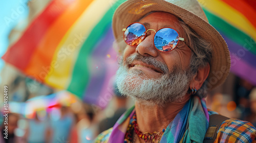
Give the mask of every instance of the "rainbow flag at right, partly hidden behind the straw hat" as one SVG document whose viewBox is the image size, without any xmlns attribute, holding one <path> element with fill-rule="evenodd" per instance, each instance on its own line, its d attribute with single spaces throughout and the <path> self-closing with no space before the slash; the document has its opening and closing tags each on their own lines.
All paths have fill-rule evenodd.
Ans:
<svg viewBox="0 0 256 143">
<path fill-rule="evenodd" d="M 198 0 L 230 51 L 231 72 L 256 85 L 256 1 Z"/>
</svg>

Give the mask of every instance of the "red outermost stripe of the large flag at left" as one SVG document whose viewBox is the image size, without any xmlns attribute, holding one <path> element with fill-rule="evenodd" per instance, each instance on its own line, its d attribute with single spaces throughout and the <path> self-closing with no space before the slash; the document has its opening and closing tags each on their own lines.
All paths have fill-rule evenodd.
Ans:
<svg viewBox="0 0 256 143">
<path fill-rule="evenodd" d="M 31 23 L 23 36 L 11 45 L 2 59 L 15 65 L 20 70 L 25 69 L 37 44 L 45 36 L 47 29 L 73 2 L 71 0 L 52 1 Z"/>
</svg>

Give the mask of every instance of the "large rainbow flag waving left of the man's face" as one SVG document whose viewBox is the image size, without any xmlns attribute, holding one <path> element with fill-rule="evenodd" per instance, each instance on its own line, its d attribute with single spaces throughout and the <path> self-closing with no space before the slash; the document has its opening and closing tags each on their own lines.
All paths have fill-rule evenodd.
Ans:
<svg viewBox="0 0 256 143">
<path fill-rule="evenodd" d="M 32 79 L 104 108 L 117 70 L 112 16 L 123 1 L 53 0 L 2 58 Z"/>
</svg>

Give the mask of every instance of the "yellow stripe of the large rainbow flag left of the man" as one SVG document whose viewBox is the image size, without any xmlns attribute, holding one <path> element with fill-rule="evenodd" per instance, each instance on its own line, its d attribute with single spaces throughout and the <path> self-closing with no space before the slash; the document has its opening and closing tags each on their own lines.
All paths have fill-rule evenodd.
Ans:
<svg viewBox="0 0 256 143">
<path fill-rule="evenodd" d="M 82 13 L 57 46 L 53 57 L 56 68 L 46 77 L 47 84 L 60 89 L 69 86 L 73 67 L 83 42 L 110 7 L 110 0 L 95 0 Z"/>
</svg>

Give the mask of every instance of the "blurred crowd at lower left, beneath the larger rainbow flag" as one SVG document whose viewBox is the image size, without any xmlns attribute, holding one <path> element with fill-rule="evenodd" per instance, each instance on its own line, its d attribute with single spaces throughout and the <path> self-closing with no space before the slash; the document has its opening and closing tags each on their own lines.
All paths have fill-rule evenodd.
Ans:
<svg viewBox="0 0 256 143">
<path fill-rule="evenodd" d="M 118 105 L 113 116 L 103 117 L 99 108 L 81 104 L 80 111 L 75 112 L 72 106 L 51 107 L 46 112 L 41 109 L 31 118 L 22 114 L 8 114 L 8 139 L 4 139 L 4 122 L 1 123 L 0 142 L 93 142 L 93 139 L 102 131 L 113 127 L 120 115 L 126 110 L 125 97 L 115 97 Z M 96 115 L 97 113 L 97 115 Z M 4 117 L 2 117 L 4 121 Z"/>
</svg>

